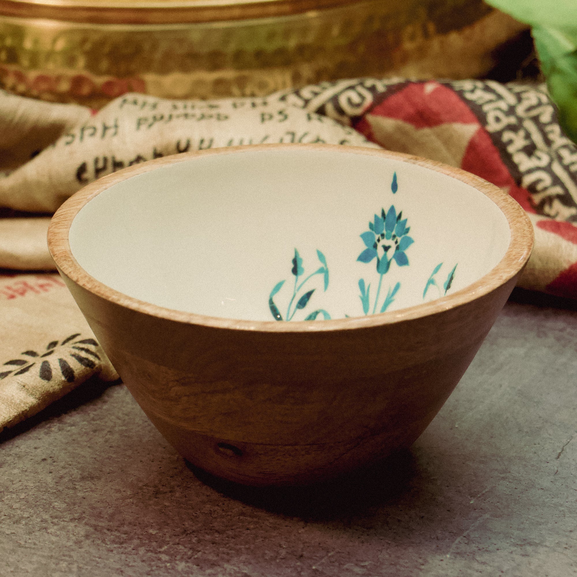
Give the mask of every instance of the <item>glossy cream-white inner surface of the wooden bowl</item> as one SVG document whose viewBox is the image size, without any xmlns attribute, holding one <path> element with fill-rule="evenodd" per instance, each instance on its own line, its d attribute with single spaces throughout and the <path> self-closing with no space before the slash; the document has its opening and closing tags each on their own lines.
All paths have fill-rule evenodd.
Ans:
<svg viewBox="0 0 577 577">
<path fill-rule="evenodd" d="M 369 221 L 379 229 L 374 215 L 391 206 L 395 215 L 402 211 L 395 228 L 407 219 L 396 230 L 400 240 L 413 242 L 402 241 L 404 264 L 404 257 L 392 256 L 394 233 L 375 240 L 379 261 L 390 263 L 381 275 L 384 261 L 377 271 L 377 257 L 358 260 L 368 248 L 365 260 L 374 254 L 371 235 L 361 234 L 371 232 Z M 391 223 L 389 216 L 388 230 Z M 439 298 L 488 273 L 509 240 L 503 213 L 473 187 L 344 147 L 247 148 L 155 168 L 98 194 L 69 233 L 78 264 L 123 294 L 169 309 L 259 321 L 275 320 L 275 307 L 283 320 L 305 320 L 315 311 L 317 320 L 325 313 L 342 319 Z M 383 246 L 391 246 L 386 257 Z M 302 258 L 296 268 L 295 249 Z M 271 307 L 271 292 L 283 280 Z"/>
</svg>

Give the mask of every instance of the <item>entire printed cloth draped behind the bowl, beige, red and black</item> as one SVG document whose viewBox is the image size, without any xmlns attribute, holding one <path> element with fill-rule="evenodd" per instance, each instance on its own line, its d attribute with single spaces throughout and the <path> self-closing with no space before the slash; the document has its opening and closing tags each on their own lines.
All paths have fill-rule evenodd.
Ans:
<svg viewBox="0 0 577 577">
<path fill-rule="evenodd" d="M 134 163 L 279 142 L 379 146 L 494 183 L 534 227 L 518 286 L 577 298 L 577 147 L 541 85 L 357 78 L 258 99 L 128 94 L 98 112 L 0 91 L 0 267 L 23 271 L 0 275 L 0 429 L 91 377 L 117 379 L 65 285 L 39 272 L 54 269 L 50 213 Z"/>
</svg>

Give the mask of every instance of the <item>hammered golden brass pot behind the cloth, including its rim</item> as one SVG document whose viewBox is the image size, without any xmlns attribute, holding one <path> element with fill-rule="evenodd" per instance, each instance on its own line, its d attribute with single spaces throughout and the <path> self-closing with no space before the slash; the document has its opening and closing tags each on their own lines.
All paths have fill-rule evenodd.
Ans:
<svg viewBox="0 0 577 577">
<path fill-rule="evenodd" d="M 129 91 L 205 99 L 463 78 L 522 28 L 481 0 L 0 0 L 0 85 L 99 108 Z"/>
</svg>

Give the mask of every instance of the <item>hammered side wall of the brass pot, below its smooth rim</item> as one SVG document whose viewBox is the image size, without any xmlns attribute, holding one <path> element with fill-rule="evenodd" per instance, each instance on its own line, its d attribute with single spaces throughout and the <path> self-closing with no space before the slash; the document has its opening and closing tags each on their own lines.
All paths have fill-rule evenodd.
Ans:
<svg viewBox="0 0 577 577">
<path fill-rule="evenodd" d="M 336 78 L 406 73 L 407 65 L 411 72 L 411 59 L 430 58 L 440 36 L 476 26 L 473 40 L 482 44 L 482 23 L 489 20 L 496 29 L 491 42 L 503 42 L 523 27 L 480 0 L 369 0 L 274 18 L 193 24 L 0 16 L 0 86 L 94 108 L 129 91 L 164 98 L 265 96 Z M 486 58 L 456 56 L 433 54 L 430 76 L 475 76 L 490 66 Z M 415 70 L 422 76 L 418 66 Z"/>
</svg>

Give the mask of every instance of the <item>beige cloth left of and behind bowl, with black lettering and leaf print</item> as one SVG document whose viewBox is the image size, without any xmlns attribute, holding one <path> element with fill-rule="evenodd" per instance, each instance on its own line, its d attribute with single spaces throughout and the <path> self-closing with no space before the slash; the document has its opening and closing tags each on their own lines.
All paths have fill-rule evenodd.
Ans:
<svg viewBox="0 0 577 577">
<path fill-rule="evenodd" d="M 355 130 L 280 100 L 182 102 L 129 94 L 91 115 L 0 92 L 0 267 L 54 269 L 51 213 L 104 174 L 159 156 L 252 143 L 376 147 Z M 34 128 L 36 127 L 36 129 Z M 43 149 L 42 152 L 38 152 Z M 27 161 L 28 162 L 25 162 Z M 12 216 L 10 216 L 12 215 Z M 0 276 L 0 429 L 43 409 L 92 374 L 118 376 L 58 275 Z"/>
</svg>

